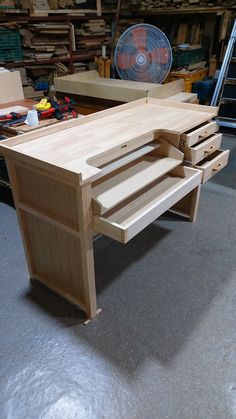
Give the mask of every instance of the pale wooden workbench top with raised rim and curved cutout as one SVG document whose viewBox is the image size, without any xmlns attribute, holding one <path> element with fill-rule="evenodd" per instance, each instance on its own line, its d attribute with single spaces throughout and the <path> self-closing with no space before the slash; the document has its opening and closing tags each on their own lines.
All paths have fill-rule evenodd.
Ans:
<svg viewBox="0 0 236 419">
<path fill-rule="evenodd" d="M 0 153 L 31 158 L 48 169 L 66 170 L 82 184 L 101 172 L 99 166 L 158 138 L 160 133 L 179 138 L 216 114 L 213 107 L 146 98 L 3 141 Z"/>
</svg>

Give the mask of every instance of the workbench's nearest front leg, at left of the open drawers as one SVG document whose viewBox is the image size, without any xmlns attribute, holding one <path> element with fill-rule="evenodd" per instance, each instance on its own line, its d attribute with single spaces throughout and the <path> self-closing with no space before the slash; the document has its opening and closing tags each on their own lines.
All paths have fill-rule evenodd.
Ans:
<svg viewBox="0 0 236 419">
<path fill-rule="evenodd" d="M 78 188 L 77 204 L 85 307 L 88 318 L 92 319 L 97 314 L 97 305 L 92 242 L 91 185 L 84 185 Z"/>
</svg>

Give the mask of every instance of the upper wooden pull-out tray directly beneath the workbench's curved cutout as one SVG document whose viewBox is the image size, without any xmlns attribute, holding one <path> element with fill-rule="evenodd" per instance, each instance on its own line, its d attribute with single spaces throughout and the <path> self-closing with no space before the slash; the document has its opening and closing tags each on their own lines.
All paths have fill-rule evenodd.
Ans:
<svg viewBox="0 0 236 419">
<path fill-rule="evenodd" d="M 142 152 L 141 148 L 139 154 Z M 110 211 L 182 161 L 183 153 L 159 138 L 158 146 L 152 152 L 138 157 L 137 151 L 134 151 L 103 166 L 104 175 L 92 184 L 93 212 L 102 215 Z M 121 166 L 122 163 L 125 164 Z"/>
</svg>

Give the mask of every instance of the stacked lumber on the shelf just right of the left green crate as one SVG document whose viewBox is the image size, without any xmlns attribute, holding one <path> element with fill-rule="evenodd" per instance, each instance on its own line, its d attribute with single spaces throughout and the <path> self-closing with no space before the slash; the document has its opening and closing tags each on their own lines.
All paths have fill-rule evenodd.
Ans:
<svg viewBox="0 0 236 419">
<path fill-rule="evenodd" d="M 51 57 L 69 57 L 69 25 L 61 23 L 34 23 L 21 30 L 25 59 L 49 60 Z"/>
</svg>

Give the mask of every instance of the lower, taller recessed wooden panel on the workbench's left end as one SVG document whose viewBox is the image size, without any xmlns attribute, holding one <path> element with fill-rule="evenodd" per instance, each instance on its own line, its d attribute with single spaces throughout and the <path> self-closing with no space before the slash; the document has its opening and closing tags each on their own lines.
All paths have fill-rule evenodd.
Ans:
<svg viewBox="0 0 236 419">
<path fill-rule="evenodd" d="M 80 238 L 21 210 L 32 270 L 50 288 L 84 307 Z"/>
</svg>

